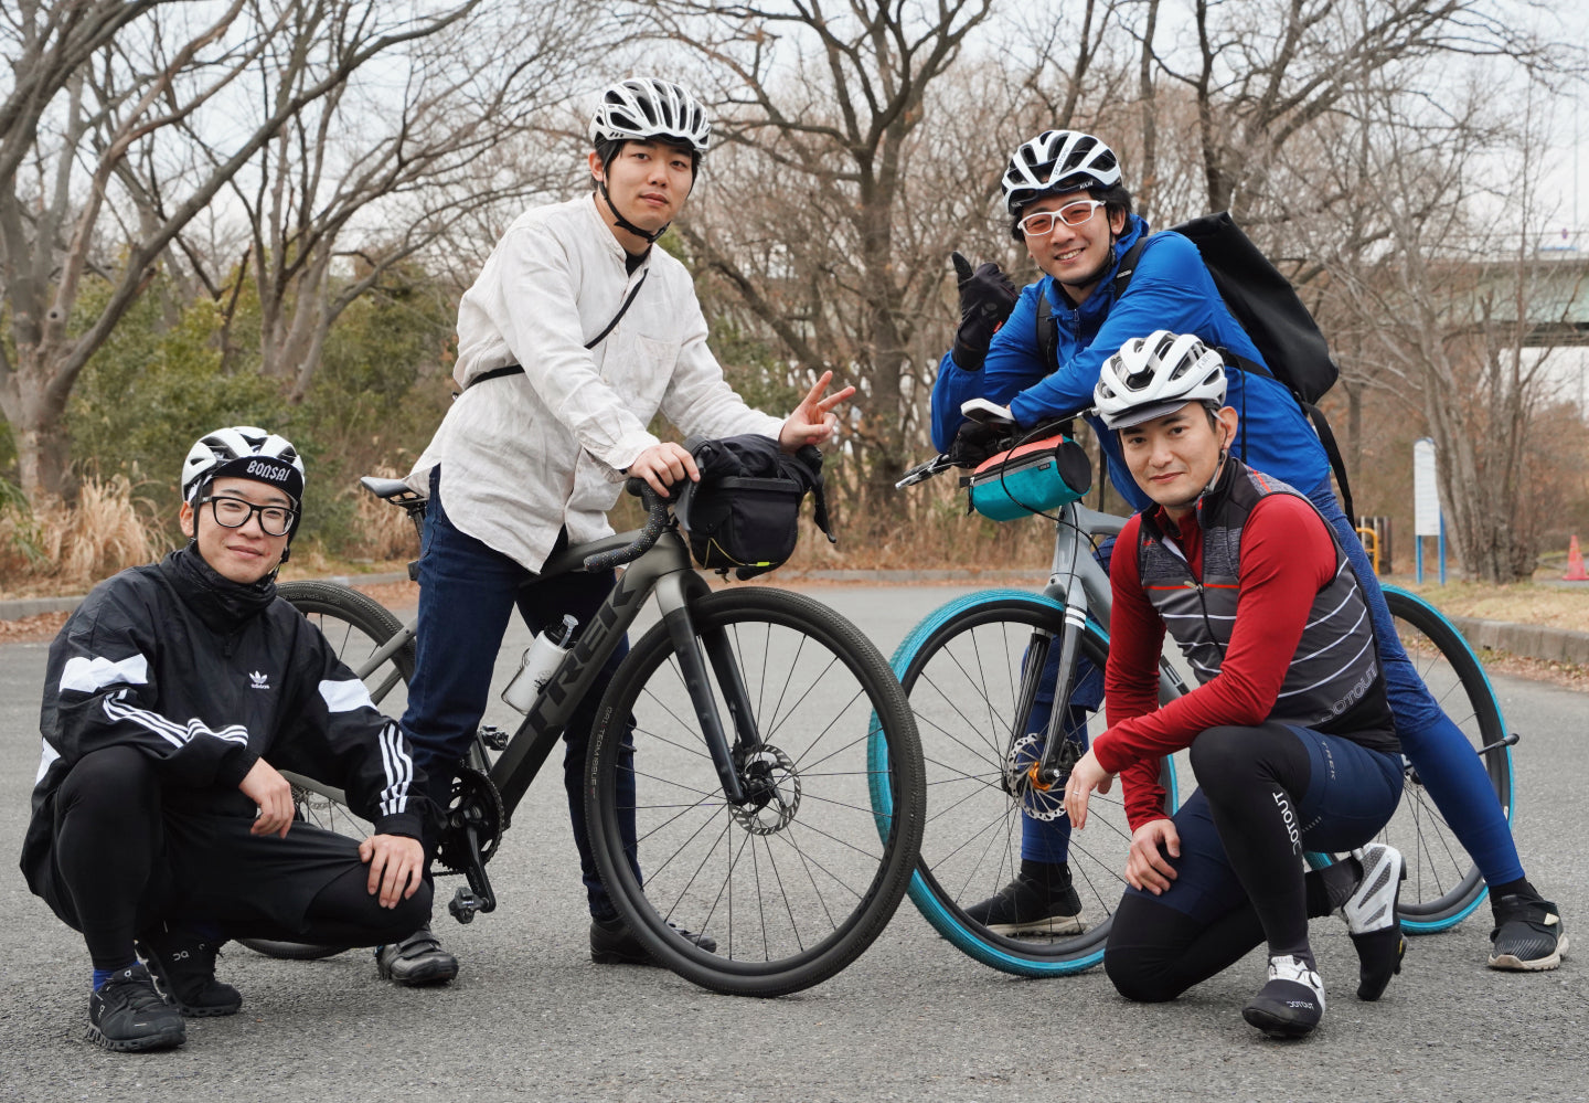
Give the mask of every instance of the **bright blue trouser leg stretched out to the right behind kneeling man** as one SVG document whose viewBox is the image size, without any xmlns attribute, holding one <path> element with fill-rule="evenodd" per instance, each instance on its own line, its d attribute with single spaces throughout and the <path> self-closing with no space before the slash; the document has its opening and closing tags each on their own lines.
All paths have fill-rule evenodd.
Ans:
<svg viewBox="0 0 1589 1103">
<path fill-rule="evenodd" d="M 1346 558 L 1357 572 L 1368 599 L 1368 612 L 1374 620 L 1374 642 L 1379 645 L 1379 661 L 1386 671 L 1386 695 L 1395 715 L 1395 734 L 1401 741 L 1401 753 L 1408 757 L 1462 847 L 1473 857 L 1484 880 L 1505 885 L 1522 879 L 1522 861 L 1511 839 L 1506 815 L 1495 799 L 1484 763 L 1473 753 L 1462 730 L 1441 712 L 1417 669 L 1401 648 L 1401 637 L 1390 620 L 1379 579 L 1363 552 L 1357 529 L 1341 512 L 1330 485 L 1314 488 L 1308 501 L 1335 526 Z"/>
</svg>

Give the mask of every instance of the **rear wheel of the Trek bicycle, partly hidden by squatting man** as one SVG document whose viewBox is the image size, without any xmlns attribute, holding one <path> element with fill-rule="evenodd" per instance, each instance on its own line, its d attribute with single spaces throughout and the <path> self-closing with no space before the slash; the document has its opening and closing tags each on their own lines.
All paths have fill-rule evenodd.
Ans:
<svg viewBox="0 0 1589 1103">
<path fill-rule="evenodd" d="M 354 671 L 367 666 L 369 656 L 402 631 L 402 623 L 380 602 L 350 586 L 334 582 L 283 582 L 276 586 L 276 593 L 292 602 L 326 636 L 326 642 L 331 644 L 337 658 Z M 394 704 L 400 707 L 407 699 L 404 690 L 413 674 L 413 641 L 408 641 L 386 663 L 365 674 L 364 683 L 370 690 L 370 698 L 377 701 L 377 707 L 389 712 Z M 288 780 L 292 782 L 292 803 L 297 806 L 299 822 L 346 834 L 351 839 L 364 839 L 370 834 L 369 820 L 354 815 L 338 790 L 307 777 L 289 777 Z M 265 957 L 296 962 L 331 957 L 346 949 L 269 938 L 240 938 L 237 941 Z"/>
</svg>

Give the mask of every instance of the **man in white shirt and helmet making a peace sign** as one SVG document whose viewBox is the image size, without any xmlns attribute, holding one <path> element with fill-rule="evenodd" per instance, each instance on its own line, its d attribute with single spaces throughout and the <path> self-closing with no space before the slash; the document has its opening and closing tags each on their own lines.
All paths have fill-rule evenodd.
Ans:
<svg viewBox="0 0 1589 1103">
<path fill-rule="evenodd" d="M 710 130 L 701 103 L 675 84 L 636 78 L 609 87 L 591 121 L 593 194 L 521 215 L 459 304 L 453 377 L 464 393 L 408 477 L 431 501 L 402 726 L 443 807 L 513 606 L 539 633 L 564 613 L 583 625 L 612 590 L 612 571 L 535 585 L 547 558 L 612 532 L 605 515 L 624 477 L 664 494 L 699 477 L 685 448 L 647 431 L 650 420 L 661 412 L 693 437 L 764 434 L 796 451 L 825 442 L 833 408 L 855 393 L 823 397 L 826 373 L 779 420 L 752 410 L 723 378 L 688 270 L 651 248 L 683 208 Z M 564 733 L 564 785 L 591 958 L 644 965 L 596 871 L 582 791 L 596 701 L 626 652 L 612 656 Z M 632 831 L 631 819 L 631 852 Z M 458 974 L 427 928 L 381 947 L 377 965 L 399 984 Z"/>
</svg>

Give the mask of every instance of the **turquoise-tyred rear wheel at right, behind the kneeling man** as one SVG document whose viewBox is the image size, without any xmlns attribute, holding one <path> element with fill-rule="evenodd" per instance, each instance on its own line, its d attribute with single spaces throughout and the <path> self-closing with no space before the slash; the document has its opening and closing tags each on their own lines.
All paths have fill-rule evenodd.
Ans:
<svg viewBox="0 0 1589 1103">
<path fill-rule="evenodd" d="M 1484 668 L 1462 634 L 1427 601 L 1395 586 L 1386 586 L 1384 594 L 1408 660 L 1435 702 L 1462 730 L 1473 753 L 1484 763 L 1484 772 L 1510 822 L 1514 796 L 1511 747 L 1503 742 L 1506 726 Z M 1409 935 L 1430 935 L 1456 927 L 1489 892 L 1478 866 L 1411 763 L 1406 763 L 1401 803 L 1381 839 L 1406 858 L 1406 884 L 1401 887 L 1398 911 L 1401 927 Z"/>
</svg>

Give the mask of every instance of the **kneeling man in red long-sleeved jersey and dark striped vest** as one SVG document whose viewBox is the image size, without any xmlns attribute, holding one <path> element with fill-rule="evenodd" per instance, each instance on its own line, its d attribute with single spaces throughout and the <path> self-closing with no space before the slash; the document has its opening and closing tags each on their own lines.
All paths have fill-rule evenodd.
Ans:
<svg viewBox="0 0 1589 1103">
<path fill-rule="evenodd" d="M 1131 850 L 1104 968 L 1130 1000 L 1173 1000 L 1268 942 L 1243 1008 L 1273 1036 L 1324 1016 L 1308 917 L 1343 908 L 1359 997 L 1400 971 L 1401 855 L 1368 846 L 1401 796 L 1401 755 L 1363 588 L 1328 523 L 1230 455 L 1217 353 L 1155 332 L 1104 362 L 1096 412 L 1154 505 L 1120 532 L 1104 671 L 1109 728 L 1065 787 L 1073 825 L 1123 774 Z M 1158 706 L 1174 636 L 1200 682 Z M 1163 814 L 1158 760 L 1190 747 L 1198 790 Z M 1303 850 L 1352 850 L 1303 873 Z"/>
</svg>

